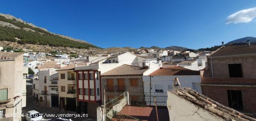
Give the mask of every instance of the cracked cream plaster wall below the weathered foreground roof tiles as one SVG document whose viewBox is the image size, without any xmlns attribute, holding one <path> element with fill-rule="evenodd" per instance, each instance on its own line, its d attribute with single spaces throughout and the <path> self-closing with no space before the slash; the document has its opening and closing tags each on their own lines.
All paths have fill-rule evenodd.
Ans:
<svg viewBox="0 0 256 121">
<path fill-rule="evenodd" d="M 168 91 L 167 108 L 170 121 L 225 121 L 170 91 Z"/>
</svg>

